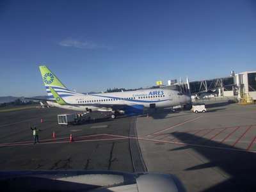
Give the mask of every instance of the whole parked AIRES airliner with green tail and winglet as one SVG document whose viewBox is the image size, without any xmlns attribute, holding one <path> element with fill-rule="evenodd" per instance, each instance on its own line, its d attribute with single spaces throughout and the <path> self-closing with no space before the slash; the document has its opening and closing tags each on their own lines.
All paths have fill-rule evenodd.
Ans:
<svg viewBox="0 0 256 192">
<path fill-rule="evenodd" d="M 147 108 L 170 108 L 191 102 L 191 97 L 176 90 L 148 89 L 88 95 L 72 92 L 49 68 L 39 68 L 49 97 L 47 103 L 58 108 L 84 113 L 111 112 L 111 118 L 116 118 L 117 115 L 143 115 Z"/>
</svg>

